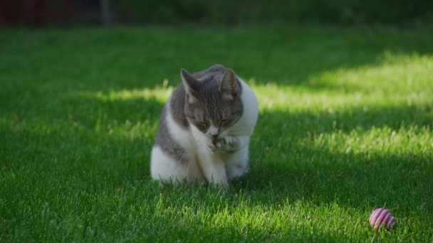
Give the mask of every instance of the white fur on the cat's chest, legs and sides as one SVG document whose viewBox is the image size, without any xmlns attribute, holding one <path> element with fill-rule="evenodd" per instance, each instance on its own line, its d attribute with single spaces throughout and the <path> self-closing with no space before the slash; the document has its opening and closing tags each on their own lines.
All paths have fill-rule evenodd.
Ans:
<svg viewBox="0 0 433 243">
<path fill-rule="evenodd" d="M 189 163 L 184 165 L 168 156 L 158 146 L 152 148 L 151 175 L 154 180 L 208 182 L 226 186 L 233 178 L 244 175 L 248 169 L 249 138 L 253 134 L 259 114 L 259 105 L 253 90 L 241 80 L 241 100 L 244 113 L 241 119 L 223 131 L 221 137 L 226 144 L 221 149 L 212 151 L 212 141 L 195 126 L 183 129 L 176 124 L 167 104 L 167 126 L 172 138 L 184 148 Z M 230 144 L 236 144 L 235 148 Z M 224 153 L 224 150 L 231 153 Z"/>
</svg>

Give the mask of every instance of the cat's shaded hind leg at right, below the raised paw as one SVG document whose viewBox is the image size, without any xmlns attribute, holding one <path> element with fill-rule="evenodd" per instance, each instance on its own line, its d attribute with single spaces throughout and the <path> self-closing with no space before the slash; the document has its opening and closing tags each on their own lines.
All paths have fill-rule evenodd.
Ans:
<svg viewBox="0 0 433 243">
<path fill-rule="evenodd" d="M 241 177 L 248 172 L 248 146 L 244 146 L 239 151 L 231 153 L 226 159 L 227 180 Z"/>
</svg>

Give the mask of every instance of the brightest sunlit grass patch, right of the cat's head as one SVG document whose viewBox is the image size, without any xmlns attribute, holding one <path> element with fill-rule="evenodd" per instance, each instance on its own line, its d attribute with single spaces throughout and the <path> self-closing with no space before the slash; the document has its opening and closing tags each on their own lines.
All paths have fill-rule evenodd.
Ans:
<svg viewBox="0 0 433 243">
<path fill-rule="evenodd" d="M 289 85 L 249 82 L 254 84 L 262 109 L 432 104 L 432 72 L 432 56 L 385 53 L 381 63 L 325 70 L 308 77 L 305 85 L 290 85 L 291 80 Z"/>
</svg>

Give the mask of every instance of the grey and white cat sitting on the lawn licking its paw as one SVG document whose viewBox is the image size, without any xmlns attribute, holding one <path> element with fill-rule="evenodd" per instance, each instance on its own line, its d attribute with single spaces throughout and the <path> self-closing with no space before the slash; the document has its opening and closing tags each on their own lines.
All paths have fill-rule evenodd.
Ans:
<svg viewBox="0 0 433 243">
<path fill-rule="evenodd" d="M 223 65 L 189 74 L 160 117 L 150 171 L 153 180 L 228 186 L 249 168 L 249 140 L 259 104 L 253 90 Z"/>
</svg>

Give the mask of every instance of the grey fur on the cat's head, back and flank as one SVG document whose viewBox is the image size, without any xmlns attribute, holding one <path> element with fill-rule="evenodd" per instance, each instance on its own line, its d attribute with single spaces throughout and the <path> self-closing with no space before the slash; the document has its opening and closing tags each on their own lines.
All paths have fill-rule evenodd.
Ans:
<svg viewBox="0 0 433 243">
<path fill-rule="evenodd" d="M 221 83 L 226 73 L 236 77 L 232 70 L 222 65 L 212 65 L 194 75 L 189 75 L 186 70 L 182 70 L 186 83 L 179 85 L 169 99 L 169 111 L 172 118 L 182 129 L 187 130 L 194 125 L 200 131 L 206 132 L 212 121 L 222 130 L 235 124 L 241 118 L 244 111 L 240 98 L 241 82 L 236 77 L 236 80 L 226 78 L 224 82 L 228 83 Z M 230 95 L 234 96 L 233 99 L 225 99 L 224 92 L 230 92 Z M 192 96 L 196 102 L 190 103 L 189 96 Z M 162 110 L 155 144 L 180 163 L 187 163 L 189 158 L 184 148 L 177 144 L 169 134 L 166 118 L 167 106 L 168 104 Z"/>
</svg>

